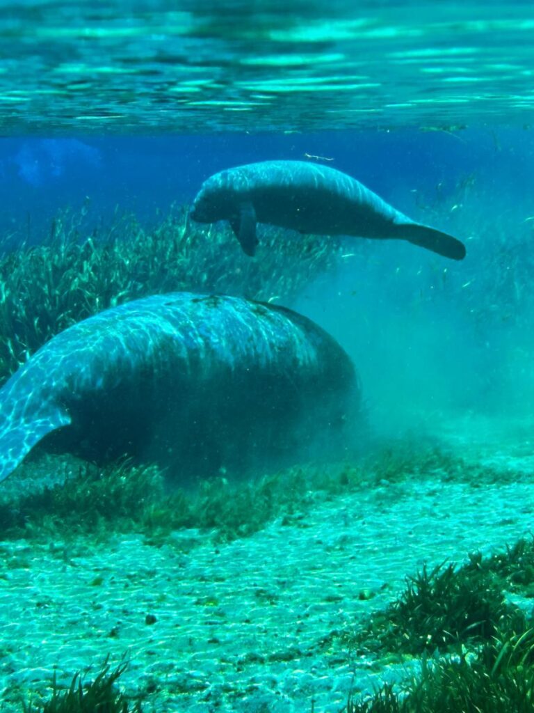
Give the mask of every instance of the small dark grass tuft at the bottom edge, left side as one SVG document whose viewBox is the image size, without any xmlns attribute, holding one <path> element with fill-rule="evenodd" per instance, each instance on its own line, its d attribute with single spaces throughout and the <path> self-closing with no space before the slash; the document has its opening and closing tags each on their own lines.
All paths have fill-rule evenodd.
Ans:
<svg viewBox="0 0 534 713">
<path fill-rule="evenodd" d="M 86 683 L 77 672 L 68 688 L 61 687 L 54 674 L 51 698 L 43 705 L 23 702 L 23 713 L 141 713 L 139 701 L 131 706 L 117 690 L 117 680 L 126 669 L 127 663 L 122 662 L 112 670 L 108 656 L 92 681 Z"/>
</svg>

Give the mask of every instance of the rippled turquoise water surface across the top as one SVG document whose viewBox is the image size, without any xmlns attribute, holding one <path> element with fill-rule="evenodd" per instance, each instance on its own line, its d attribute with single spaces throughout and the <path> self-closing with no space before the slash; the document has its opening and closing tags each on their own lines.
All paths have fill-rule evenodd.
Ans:
<svg viewBox="0 0 534 713">
<path fill-rule="evenodd" d="M 528 2 L 2 3 L 6 135 L 530 123 Z"/>
</svg>

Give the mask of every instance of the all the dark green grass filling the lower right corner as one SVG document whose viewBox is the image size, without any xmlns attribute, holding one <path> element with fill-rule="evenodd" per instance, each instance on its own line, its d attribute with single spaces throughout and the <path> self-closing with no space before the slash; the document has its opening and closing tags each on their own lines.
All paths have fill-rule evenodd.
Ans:
<svg viewBox="0 0 534 713">
<path fill-rule="evenodd" d="M 461 568 L 426 567 L 386 610 L 348 635 L 362 655 L 420 656 L 421 670 L 347 713 L 522 713 L 534 710 L 534 617 L 506 592 L 531 597 L 534 540 L 469 556 Z M 401 659 L 402 660 L 402 656 Z"/>
</svg>

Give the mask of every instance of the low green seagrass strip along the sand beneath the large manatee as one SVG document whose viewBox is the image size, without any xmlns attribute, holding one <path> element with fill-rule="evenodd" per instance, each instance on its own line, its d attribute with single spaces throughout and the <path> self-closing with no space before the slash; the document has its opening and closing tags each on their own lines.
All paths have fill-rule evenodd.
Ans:
<svg viewBox="0 0 534 713">
<path fill-rule="evenodd" d="M 0 493 L 0 532 L 6 537 L 47 538 L 63 531 L 69 536 L 138 531 L 160 541 L 179 528 L 211 531 L 217 540 L 234 540 L 280 519 L 298 521 L 313 503 L 344 493 L 365 491 L 377 498 L 409 492 L 422 478 L 464 481 L 478 487 L 484 481 L 504 481 L 513 473 L 492 471 L 468 463 L 434 441 L 411 438 L 377 442 L 370 453 L 351 463 L 303 463 L 256 478 L 227 476 L 177 486 L 176 478 L 156 466 L 122 460 L 98 467 L 62 456 L 65 478 L 53 479 L 58 458 L 33 456 L 22 466 L 16 488 Z M 47 476 L 47 472 L 50 474 Z M 36 473 L 38 483 L 31 483 Z M 51 484 L 46 485 L 50 477 Z M 63 482 L 64 480 L 64 482 Z M 11 485 L 13 481 L 10 481 Z M 378 486 L 378 487 L 377 487 Z M 516 579 L 525 577 L 525 558 Z M 505 565 L 503 565 L 505 566 Z M 511 566 L 511 565 L 508 565 Z M 528 570 L 530 571 L 530 570 Z M 534 563 L 533 563 L 534 586 Z"/>
</svg>

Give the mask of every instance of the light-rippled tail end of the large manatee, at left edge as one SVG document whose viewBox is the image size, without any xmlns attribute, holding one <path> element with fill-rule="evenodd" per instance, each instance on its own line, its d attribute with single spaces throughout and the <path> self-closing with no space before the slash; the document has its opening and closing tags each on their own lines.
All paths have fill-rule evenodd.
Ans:
<svg viewBox="0 0 534 713">
<path fill-rule="evenodd" d="M 19 424 L 14 424 L 9 415 L 6 416 L 0 430 L 0 481 L 15 470 L 36 443 L 51 431 L 68 426 L 70 421 L 66 411 L 58 408 L 40 419 L 20 418 Z"/>
</svg>

